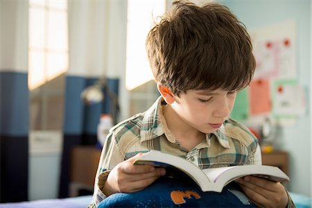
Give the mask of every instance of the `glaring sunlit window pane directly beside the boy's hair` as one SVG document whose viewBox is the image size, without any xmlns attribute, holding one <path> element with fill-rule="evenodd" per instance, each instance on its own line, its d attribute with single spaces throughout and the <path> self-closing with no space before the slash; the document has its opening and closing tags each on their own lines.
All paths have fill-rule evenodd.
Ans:
<svg viewBox="0 0 312 208">
<path fill-rule="evenodd" d="M 148 31 L 165 11 L 162 0 L 129 0 L 125 87 L 134 89 L 153 79 L 148 64 L 145 41 Z"/>
</svg>

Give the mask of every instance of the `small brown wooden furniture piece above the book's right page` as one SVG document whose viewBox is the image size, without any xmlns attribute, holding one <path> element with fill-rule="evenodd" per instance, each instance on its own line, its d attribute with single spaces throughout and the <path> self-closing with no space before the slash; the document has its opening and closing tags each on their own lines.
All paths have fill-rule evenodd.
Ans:
<svg viewBox="0 0 312 208">
<path fill-rule="evenodd" d="M 272 153 L 262 153 L 262 164 L 269 166 L 277 166 L 288 175 L 289 158 L 285 151 L 274 151 Z"/>
</svg>

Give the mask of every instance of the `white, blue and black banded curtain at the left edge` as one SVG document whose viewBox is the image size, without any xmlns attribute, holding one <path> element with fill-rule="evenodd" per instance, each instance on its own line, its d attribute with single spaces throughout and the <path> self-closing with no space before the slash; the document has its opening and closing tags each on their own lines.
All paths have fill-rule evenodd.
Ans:
<svg viewBox="0 0 312 208">
<path fill-rule="evenodd" d="M 27 52 L 28 1 L 1 0 L 0 202 L 28 199 Z"/>
</svg>

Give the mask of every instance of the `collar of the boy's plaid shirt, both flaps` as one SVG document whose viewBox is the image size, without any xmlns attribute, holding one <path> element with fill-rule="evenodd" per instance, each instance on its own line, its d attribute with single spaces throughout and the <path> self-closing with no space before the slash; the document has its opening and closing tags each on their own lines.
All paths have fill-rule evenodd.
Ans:
<svg viewBox="0 0 312 208">
<path fill-rule="evenodd" d="M 164 102 L 164 98 L 159 96 L 155 103 L 144 113 L 140 132 L 140 142 L 166 135 L 168 141 L 175 143 L 175 137 L 168 129 L 166 119 L 164 119 L 163 108 L 166 105 Z M 213 136 L 216 136 L 216 139 L 218 139 L 221 146 L 229 148 L 229 141 L 225 134 L 224 124 L 213 134 L 206 135 L 207 143 L 205 144 L 208 145 L 208 147 L 210 146 L 210 139 Z"/>
</svg>

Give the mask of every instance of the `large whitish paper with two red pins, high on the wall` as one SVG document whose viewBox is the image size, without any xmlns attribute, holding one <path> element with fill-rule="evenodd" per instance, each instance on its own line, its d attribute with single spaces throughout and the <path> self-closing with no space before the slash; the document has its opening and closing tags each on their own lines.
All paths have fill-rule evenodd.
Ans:
<svg viewBox="0 0 312 208">
<path fill-rule="evenodd" d="M 257 61 L 254 78 L 297 78 L 295 31 L 295 21 L 288 21 L 251 32 Z"/>
</svg>

